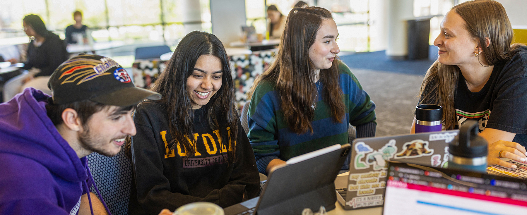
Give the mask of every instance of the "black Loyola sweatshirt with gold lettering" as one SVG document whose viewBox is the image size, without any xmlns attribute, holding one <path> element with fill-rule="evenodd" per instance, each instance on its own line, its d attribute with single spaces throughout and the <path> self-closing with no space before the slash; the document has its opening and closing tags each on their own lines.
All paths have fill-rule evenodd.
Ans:
<svg viewBox="0 0 527 215">
<path fill-rule="evenodd" d="M 255 155 L 239 122 L 238 160 L 229 165 L 226 162 L 228 144 L 220 143 L 218 131 L 208 126 L 204 107 L 194 110 L 193 138 L 198 153 L 190 158 L 182 146 L 170 152 L 165 150 L 165 144 L 172 140 L 167 119 L 164 104 L 143 103 L 135 111 L 137 134 L 132 138 L 131 215 L 158 214 L 163 208 L 174 211 L 183 204 L 197 201 L 213 202 L 225 208 L 241 202 L 244 193 L 243 200 L 258 195 L 260 180 Z M 220 129 L 227 132 L 230 128 L 220 126 Z"/>
</svg>

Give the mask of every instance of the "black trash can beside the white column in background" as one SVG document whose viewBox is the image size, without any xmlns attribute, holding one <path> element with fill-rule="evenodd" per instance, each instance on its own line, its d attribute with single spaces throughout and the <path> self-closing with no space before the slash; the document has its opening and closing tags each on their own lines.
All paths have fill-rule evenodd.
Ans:
<svg viewBox="0 0 527 215">
<path fill-rule="evenodd" d="M 428 39 L 430 38 L 430 19 L 408 20 L 408 60 L 428 58 Z"/>
</svg>

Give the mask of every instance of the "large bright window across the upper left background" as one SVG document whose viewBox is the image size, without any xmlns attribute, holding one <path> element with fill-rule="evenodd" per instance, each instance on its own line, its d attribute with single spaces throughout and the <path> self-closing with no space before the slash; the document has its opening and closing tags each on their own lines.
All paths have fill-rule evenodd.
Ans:
<svg viewBox="0 0 527 215">
<path fill-rule="evenodd" d="M 17 0 L 4 1 L 0 7 L 0 42 L 27 41 L 22 18 L 39 15 L 48 30 L 64 37 L 66 26 L 74 23 L 73 12 L 83 13 L 83 24 L 90 27 L 95 42 L 123 41 L 126 44 L 175 41 L 186 32 L 185 23 L 199 24 L 211 31 L 208 0 Z M 186 4 L 185 4 L 186 3 Z M 201 8 L 197 20 L 184 20 L 182 5 Z M 14 38 L 18 38 L 15 40 Z M 7 41 L 7 42 L 6 42 Z"/>
</svg>

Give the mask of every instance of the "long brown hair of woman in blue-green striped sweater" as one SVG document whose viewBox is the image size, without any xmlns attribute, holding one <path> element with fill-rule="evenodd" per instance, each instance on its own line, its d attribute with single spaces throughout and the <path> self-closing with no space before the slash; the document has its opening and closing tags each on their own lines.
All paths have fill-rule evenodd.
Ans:
<svg viewBox="0 0 527 215">
<path fill-rule="evenodd" d="M 315 43 L 317 31 L 324 19 L 331 19 L 331 13 L 323 7 L 296 7 L 287 16 L 284 34 L 275 61 L 269 69 L 255 80 L 249 91 L 252 96 L 261 81 L 276 83 L 280 96 L 281 110 L 289 128 L 298 134 L 311 131 L 315 111 L 311 104 L 317 99 L 315 66 L 309 58 L 309 47 Z M 331 67 L 320 70 L 324 102 L 330 107 L 333 121 L 341 123 L 345 107 L 339 83 L 340 60 L 335 56 Z"/>
</svg>

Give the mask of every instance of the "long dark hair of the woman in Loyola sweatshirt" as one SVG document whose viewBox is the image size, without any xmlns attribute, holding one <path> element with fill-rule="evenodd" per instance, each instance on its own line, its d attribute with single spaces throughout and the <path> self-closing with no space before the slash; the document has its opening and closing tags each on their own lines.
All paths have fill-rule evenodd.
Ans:
<svg viewBox="0 0 527 215">
<path fill-rule="evenodd" d="M 225 47 L 215 35 L 193 31 L 184 36 L 175 48 L 165 71 L 150 87 L 150 90 L 160 93 L 163 99 L 159 101 L 145 100 L 144 103 L 162 103 L 167 107 L 170 135 L 172 136 L 172 141 L 167 147 L 173 149 L 179 142 L 187 151 L 187 156 L 193 156 L 196 143 L 191 143 L 188 140 L 193 141 L 194 112 L 186 85 L 187 79 L 192 75 L 194 65 L 201 55 L 218 57 L 223 67 L 220 90 L 202 108 L 206 109 L 210 128 L 213 131 L 219 129 L 221 142 L 226 146 L 229 145 L 229 160 L 235 161 L 239 119 L 235 105 L 234 84 Z M 225 119 L 218 119 L 218 116 Z M 225 130 L 227 127 L 230 127 L 230 131 Z"/>
</svg>

